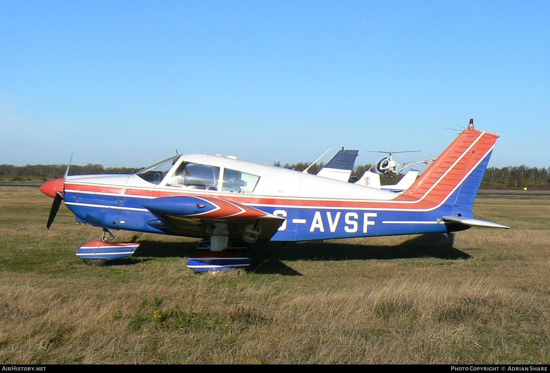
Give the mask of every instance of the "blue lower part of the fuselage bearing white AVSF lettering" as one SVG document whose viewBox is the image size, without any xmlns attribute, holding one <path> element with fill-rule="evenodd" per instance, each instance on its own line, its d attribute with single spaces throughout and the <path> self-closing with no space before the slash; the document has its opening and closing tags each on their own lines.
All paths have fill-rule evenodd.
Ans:
<svg viewBox="0 0 550 373">
<path fill-rule="evenodd" d="M 144 209 L 149 199 L 116 195 L 67 192 L 64 201 L 76 220 L 109 229 L 124 229 L 158 234 L 178 234 L 154 228 L 148 222 L 158 219 Z M 449 198 L 454 200 L 454 196 Z M 273 235 L 274 241 L 300 241 L 331 238 L 372 237 L 383 235 L 448 233 L 466 227 L 445 223 L 445 215 L 460 213 L 472 217 L 470 209 L 441 205 L 431 211 L 387 211 L 351 208 L 251 205 L 256 209 L 283 216 L 286 221 Z M 181 232 L 180 235 L 188 235 Z"/>
</svg>

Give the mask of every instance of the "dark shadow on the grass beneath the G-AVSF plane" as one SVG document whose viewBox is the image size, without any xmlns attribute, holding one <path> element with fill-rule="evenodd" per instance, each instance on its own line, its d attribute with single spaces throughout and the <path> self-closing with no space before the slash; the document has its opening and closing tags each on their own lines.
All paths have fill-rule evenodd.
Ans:
<svg viewBox="0 0 550 373">
<path fill-rule="evenodd" d="M 268 242 L 251 246 L 238 253 L 252 259 L 248 271 L 286 276 L 301 276 L 282 261 L 341 261 L 370 259 L 410 259 L 434 257 L 456 260 L 470 259 L 471 255 L 453 247 L 453 237 L 442 234 L 422 234 L 398 245 L 358 245 L 332 242 L 287 243 Z M 150 260 L 148 257 L 189 257 L 197 254 L 195 242 L 140 242 L 131 261 Z"/>
</svg>

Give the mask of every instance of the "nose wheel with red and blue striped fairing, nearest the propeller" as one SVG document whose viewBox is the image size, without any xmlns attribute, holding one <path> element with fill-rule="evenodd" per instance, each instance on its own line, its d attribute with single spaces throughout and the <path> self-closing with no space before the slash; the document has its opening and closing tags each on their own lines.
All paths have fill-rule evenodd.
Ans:
<svg viewBox="0 0 550 373">
<path fill-rule="evenodd" d="M 114 234 L 103 228 L 101 239 L 80 246 L 76 256 L 83 259 L 88 266 L 104 266 L 109 260 L 131 256 L 139 246 L 138 243 L 109 243 L 113 238 Z"/>
</svg>

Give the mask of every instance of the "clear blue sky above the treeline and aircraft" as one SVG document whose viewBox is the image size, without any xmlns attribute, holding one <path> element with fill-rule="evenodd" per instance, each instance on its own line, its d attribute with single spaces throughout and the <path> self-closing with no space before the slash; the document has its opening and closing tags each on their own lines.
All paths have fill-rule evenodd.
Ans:
<svg viewBox="0 0 550 373">
<path fill-rule="evenodd" d="M 547 1 L 5 1 L 0 56 L 0 163 L 367 163 L 473 117 L 489 166 L 550 166 Z"/>
</svg>

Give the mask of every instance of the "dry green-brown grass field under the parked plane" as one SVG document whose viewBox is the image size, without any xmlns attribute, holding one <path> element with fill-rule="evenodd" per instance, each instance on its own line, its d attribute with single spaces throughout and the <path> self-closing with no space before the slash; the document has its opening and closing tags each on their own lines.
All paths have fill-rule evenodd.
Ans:
<svg viewBox="0 0 550 373">
<path fill-rule="evenodd" d="M 0 363 L 549 363 L 550 199 L 480 198 L 512 226 L 259 245 L 194 275 L 195 240 L 118 232 L 127 265 L 75 255 L 100 229 L 0 187 Z"/>
</svg>

